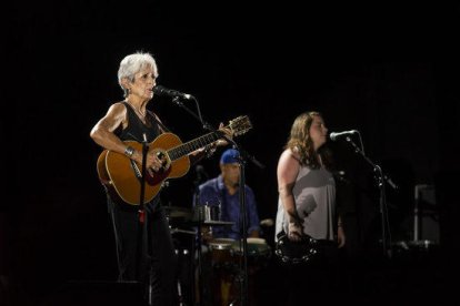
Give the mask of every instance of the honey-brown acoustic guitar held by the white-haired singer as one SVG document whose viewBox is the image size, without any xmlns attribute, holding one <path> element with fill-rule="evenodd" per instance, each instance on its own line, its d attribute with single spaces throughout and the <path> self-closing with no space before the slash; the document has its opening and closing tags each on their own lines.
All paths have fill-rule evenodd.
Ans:
<svg viewBox="0 0 460 306">
<path fill-rule="evenodd" d="M 238 116 L 226 126 L 232 131 L 233 136 L 242 135 L 252 129 L 248 116 Z M 210 132 L 198 139 L 182 143 L 173 133 L 163 133 L 148 144 L 163 161 L 162 170 L 150 175 L 146 171 L 143 203 L 151 201 L 161 190 L 163 182 L 186 175 L 190 170 L 189 154 L 200 147 L 221 139 L 223 132 Z M 134 150 L 142 152 L 142 143 L 126 141 Z M 131 205 L 139 205 L 141 192 L 141 165 L 124 154 L 104 150 L 98 157 L 97 170 L 99 180 L 112 186 L 122 201 Z"/>
</svg>

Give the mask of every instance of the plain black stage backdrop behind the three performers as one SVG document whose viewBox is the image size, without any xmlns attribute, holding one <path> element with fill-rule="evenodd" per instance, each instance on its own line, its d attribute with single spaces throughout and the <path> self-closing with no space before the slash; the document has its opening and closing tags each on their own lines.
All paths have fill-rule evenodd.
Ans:
<svg viewBox="0 0 460 306">
<path fill-rule="evenodd" d="M 432 252 L 433 262 L 447 265 L 406 271 L 406 283 L 387 287 L 401 280 L 392 274 L 401 266 L 373 265 L 380 216 L 372 170 L 347 143 L 331 143 L 348 180 L 341 186 L 347 265 L 369 271 L 371 280 L 359 274 L 359 285 L 350 286 L 372 293 L 374 282 L 389 288 L 378 294 L 399 286 L 417 295 L 407 287 L 417 278 L 433 298 L 447 294 L 431 284 L 434 276 L 444 284 L 444 269 L 457 266 L 458 6 L 62 0 L 21 2 L 3 14 L 1 156 L 10 200 L 2 200 L 0 252 L 11 303 L 46 303 L 69 280 L 116 279 L 96 173 L 101 150 L 89 132 L 122 99 L 118 64 L 138 50 L 156 57 L 158 83 L 193 94 L 214 126 L 249 115 L 253 129 L 237 141 L 266 165 L 247 164 L 261 218 L 274 218 L 277 161 L 293 119 L 307 110 L 322 112 L 329 131 L 359 130 L 367 155 L 399 185 L 388 186 L 394 243 L 412 237 L 414 185 L 434 185 L 442 252 Z M 150 108 L 183 141 L 204 133 L 168 99 L 156 96 Z M 202 163 L 211 176 L 218 156 Z M 171 181 L 163 201 L 191 207 L 194 177 L 192 169 Z M 267 288 L 277 283 L 270 276 Z"/>
</svg>

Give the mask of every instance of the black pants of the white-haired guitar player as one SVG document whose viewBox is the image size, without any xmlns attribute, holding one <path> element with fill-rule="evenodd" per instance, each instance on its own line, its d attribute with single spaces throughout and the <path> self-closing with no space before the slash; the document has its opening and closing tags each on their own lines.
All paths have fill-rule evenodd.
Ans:
<svg viewBox="0 0 460 306">
<path fill-rule="evenodd" d="M 161 205 L 151 206 L 146 205 L 147 223 L 142 227 L 138 206 L 109 200 L 117 244 L 118 280 L 146 283 L 149 305 L 177 305 L 177 256 L 168 220 Z M 146 241 L 140 253 L 141 237 Z"/>
</svg>

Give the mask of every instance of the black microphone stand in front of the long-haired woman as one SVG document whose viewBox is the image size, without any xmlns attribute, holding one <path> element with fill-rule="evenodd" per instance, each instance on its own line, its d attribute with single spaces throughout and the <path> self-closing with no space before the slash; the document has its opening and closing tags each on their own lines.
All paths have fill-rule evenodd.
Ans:
<svg viewBox="0 0 460 306">
<path fill-rule="evenodd" d="M 391 178 L 383 174 L 382 169 L 380 165 L 374 164 L 368 156 L 366 156 L 364 152 L 351 140 L 350 136 L 346 137 L 347 142 L 350 143 L 354 152 L 360 154 L 366 162 L 368 162 L 373 172 L 377 174 L 377 185 L 380 191 L 379 197 L 379 206 L 380 206 L 380 217 L 381 217 L 381 228 L 382 228 L 382 247 L 383 247 L 383 256 L 391 258 L 392 251 L 391 251 L 391 237 L 389 235 L 389 222 L 388 222 L 388 207 L 387 207 L 387 196 L 386 196 L 386 181 L 393 186 Z M 390 246 L 388 246 L 388 242 L 390 242 Z"/>
</svg>

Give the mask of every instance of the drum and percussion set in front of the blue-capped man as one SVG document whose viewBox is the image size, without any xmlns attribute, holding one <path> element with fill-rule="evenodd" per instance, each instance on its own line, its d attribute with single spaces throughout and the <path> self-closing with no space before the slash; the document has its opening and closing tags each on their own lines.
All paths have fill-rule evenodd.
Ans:
<svg viewBox="0 0 460 306">
<path fill-rule="evenodd" d="M 179 275 L 186 275 L 178 279 L 178 292 L 183 302 L 181 305 L 197 305 L 197 303 L 203 305 L 204 300 L 210 299 L 212 305 L 236 305 L 236 302 L 240 299 L 243 275 L 242 239 L 207 238 L 206 234 L 202 235 L 202 233 L 207 233 L 208 228 L 231 226 L 234 222 L 221 221 L 219 206 L 197 205 L 193 210 L 166 206 L 166 210 L 177 254 L 194 254 L 178 257 L 179 269 L 182 269 Z M 186 236 L 189 238 L 184 238 Z M 202 254 L 203 249 L 206 252 Z M 247 238 L 250 287 L 251 278 L 267 267 L 271 254 L 271 247 L 266 239 Z M 184 273 L 183 269 L 187 272 Z M 203 283 L 211 284 L 212 288 L 207 286 L 203 289 Z M 251 294 L 251 288 L 249 290 Z M 207 295 L 211 295 L 211 297 L 207 297 Z"/>
</svg>

